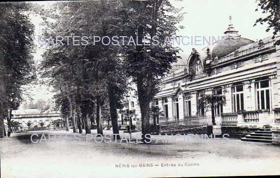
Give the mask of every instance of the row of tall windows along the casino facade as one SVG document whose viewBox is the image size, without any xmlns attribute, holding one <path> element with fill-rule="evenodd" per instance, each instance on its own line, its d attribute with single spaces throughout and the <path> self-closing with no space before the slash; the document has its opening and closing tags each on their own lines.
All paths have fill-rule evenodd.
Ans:
<svg viewBox="0 0 280 178">
<path fill-rule="evenodd" d="M 256 102 L 256 107 L 257 109 L 268 109 L 271 110 L 271 84 L 270 84 L 270 80 L 267 78 L 262 78 L 259 79 L 255 82 L 255 94 L 251 94 L 252 96 L 249 96 L 250 101 L 251 102 Z M 232 91 L 232 111 L 233 112 L 238 112 L 241 110 L 244 110 L 244 90 L 250 90 L 250 85 L 248 88 L 244 88 L 244 84 L 243 83 L 235 83 L 232 85 L 231 87 L 231 91 Z M 222 95 L 222 88 L 214 88 L 213 93 L 217 94 L 217 95 Z M 204 91 L 199 91 L 197 93 L 197 103 L 200 98 L 202 98 L 204 96 Z M 254 98 L 252 97 L 255 97 Z M 154 104 L 156 106 L 158 106 L 158 99 L 156 99 L 154 101 Z M 184 116 L 191 116 L 194 115 L 192 113 L 192 107 L 191 107 L 191 98 L 189 96 L 185 96 L 184 97 Z M 164 113 L 164 117 L 168 117 L 169 112 L 168 112 L 168 102 L 167 102 L 167 98 L 163 98 L 162 100 L 162 110 Z M 219 115 L 223 112 L 223 106 L 222 105 L 217 105 L 215 106 L 214 110 L 212 110 L 212 114 L 215 115 Z M 178 102 L 178 98 L 173 98 L 172 99 L 172 113 L 173 113 L 173 117 L 175 118 L 179 118 L 179 102 Z M 205 114 L 205 108 L 204 108 L 204 104 L 201 103 L 200 107 L 197 107 L 197 113 L 195 113 L 195 115 L 204 115 Z"/>
</svg>

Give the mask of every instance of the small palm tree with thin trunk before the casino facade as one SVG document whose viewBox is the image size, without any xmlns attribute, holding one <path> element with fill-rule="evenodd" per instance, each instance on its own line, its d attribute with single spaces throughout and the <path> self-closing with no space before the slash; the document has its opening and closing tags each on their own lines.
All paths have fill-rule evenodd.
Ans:
<svg viewBox="0 0 280 178">
<path fill-rule="evenodd" d="M 198 102 L 198 108 L 204 107 L 205 112 L 208 110 L 212 111 L 212 124 L 213 125 L 216 125 L 215 114 L 214 114 L 215 108 L 217 108 L 219 106 L 224 106 L 224 105 L 226 105 L 226 96 L 217 95 L 215 93 L 203 95 L 203 97 L 201 97 Z"/>
</svg>

